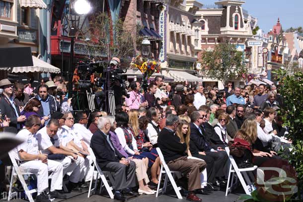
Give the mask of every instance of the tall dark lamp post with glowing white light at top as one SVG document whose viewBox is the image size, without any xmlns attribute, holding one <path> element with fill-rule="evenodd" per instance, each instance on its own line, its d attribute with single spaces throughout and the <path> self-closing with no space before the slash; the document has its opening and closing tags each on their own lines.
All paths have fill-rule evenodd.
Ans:
<svg viewBox="0 0 303 202">
<path fill-rule="evenodd" d="M 81 15 L 86 15 L 91 10 L 90 3 L 87 0 L 71 0 L 69 7 L 69 28 L 68 35 L 71 37 L 70 66 L 69 66 L 69 97 L 73 92 L 73 76 L 74 76 L 74 44 L 75 36 L 78 32 L 78 24 Z M 84 23 L 84 22 L 83 22 Z"/>
</svg>

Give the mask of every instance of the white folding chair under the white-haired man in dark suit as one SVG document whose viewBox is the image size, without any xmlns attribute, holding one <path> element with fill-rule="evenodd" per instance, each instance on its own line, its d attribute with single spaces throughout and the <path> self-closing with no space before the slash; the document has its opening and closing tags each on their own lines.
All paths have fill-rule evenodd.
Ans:
<svg viewBox="0 0 303 202">
<path fill-rule="evenodd" d="M 113 194 L 113 188 L 109 186 L 109 184 L 107 183 L 107 180 L 106 180 L 106 177 L 105 175 L 103 174 L 101 168 L 99 167 L 98 163 L 96 162 L 96 156 L 95 154 L 93 153 L 92 149 L 89 147 L 88 148 L 88 151 L 89 151 L 89 154 L 92 158 L 92 161 L 93 161 L 93 165 L 94 167 L 96 167 L 97 171 L 98 171 L 98 174 L 97 174 L 97 177 L 96 177 L 96 180 L 95 180 L 95 187 L 93 189 L 91 189 L 91 185 L 92 185 L 92 181 L 94 180 L 94 172 L 92 172 L 92 176 L 91 176 L 91 180 L 90 180 L 90 183 L 89 183 L 89 189 L 88 189 L 88 195 L 87 195 L 87 198 L 90 197 L 90 192 L 94 192 L 96 191 L 97 189 L 97 181 L 98 181 L 98 178 L 99 178 L 99 175 L 101 177 L 101 185 L 100 185 L 100 192 L 101 193 L 101 188 L 102 188 L 102 183 L 104 184 L 105 188 L 106 188 L 106 191 L 107 193 L 109 194 L 109 197 L 111 199 L 114 199 L 114 194 Z"/>
</svg>

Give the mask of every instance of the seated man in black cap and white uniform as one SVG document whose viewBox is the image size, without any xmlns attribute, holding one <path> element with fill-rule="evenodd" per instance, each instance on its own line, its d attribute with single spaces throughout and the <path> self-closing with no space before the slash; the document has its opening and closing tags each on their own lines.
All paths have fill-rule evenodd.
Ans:
<svg viewBox="0 0 303 202">
<path fill-rule="evenodd" d="M 81 177 L 81 172 L 83 170 L 84 158 L 78 151 L 68 148 L 68 144 L 73 141 L 73 136 L 69 133 L 68 130 L 63 128 L 63 126 L 65 125 L 65 121 L 68 118 L 68 115 L 68 113 L 62 114 L 61 112 L 55 112 L 54 114 L 52 114 L 52 119 L 57 119 L 59 122 L 57 136 L 59 137 L 60 148 L 77 155 L 77 158 L 74 158 L 76 168 L 73 171 L 70 171 L 68 169 L 69 171 L 67 173 L 70 176 L 69 190 L 75 192 L 82 192 L 81 188 L 78 187 L 78 182 Z"/>
</svg>

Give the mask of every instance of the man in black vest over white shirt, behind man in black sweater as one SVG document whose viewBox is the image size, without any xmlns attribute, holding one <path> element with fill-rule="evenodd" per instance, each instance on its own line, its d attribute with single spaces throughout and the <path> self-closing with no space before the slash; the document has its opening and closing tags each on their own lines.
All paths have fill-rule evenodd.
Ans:
<svg viewBox="0 0 303 202">
<path fill-rule="evenodd" d="M 159 123 L 162 119 L 161 116 L 161 112 L 157 108 L 151 107 L 148 110 L 147 117 L 151 120 L 151 122 L 148 124 L 147 131 L 150 142 L 153 145 L 157 143 L 158 134 L 161 131 L 159 128 Z"/>
</svg>

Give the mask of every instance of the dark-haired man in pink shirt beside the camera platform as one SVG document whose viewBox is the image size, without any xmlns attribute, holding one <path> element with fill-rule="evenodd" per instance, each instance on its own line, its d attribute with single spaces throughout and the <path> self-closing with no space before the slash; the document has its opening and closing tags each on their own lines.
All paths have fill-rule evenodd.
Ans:
<svg viewBox="0 0 303 202">
<path fill-rule="evenodd" d="M 132 91 L 128 92 L 129 98 L 125 98 L 126 106 L 130 109 L 139 109 L 140 107 L 148 107 L 149 103 L 140 93 L 141 84 L 139 81 L 133 81 L 130 84 Z"/>
</svg>

